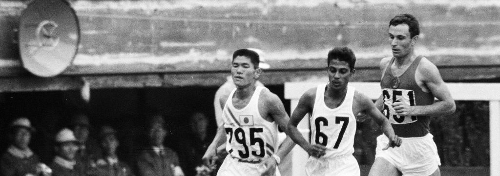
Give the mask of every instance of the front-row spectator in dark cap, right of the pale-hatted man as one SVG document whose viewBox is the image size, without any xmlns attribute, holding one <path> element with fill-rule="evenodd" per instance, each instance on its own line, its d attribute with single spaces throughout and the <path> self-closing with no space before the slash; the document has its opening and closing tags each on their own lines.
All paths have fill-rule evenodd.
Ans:
<svg viewBox="0 0 500 176">
<path fill-rule="evenodd" d="M 116 131 L 110 126 L 100 128 L 99 141 L 102 156 L 90 161 L 87 169 L 88 176 L 133 176 L 130 167 L 118 160 L 116 148 L 119 142 L 115 133 Z"/>
</svg>

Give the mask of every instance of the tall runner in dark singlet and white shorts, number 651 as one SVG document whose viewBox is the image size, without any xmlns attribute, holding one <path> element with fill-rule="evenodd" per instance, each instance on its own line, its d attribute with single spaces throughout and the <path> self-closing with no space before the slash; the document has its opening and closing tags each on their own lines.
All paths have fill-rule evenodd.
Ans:
<svg viewBox="0 0 500 176">
<path fill-rule="evenodd" d="M 388 33 L 393 57 L 380 61 L 382 95 L 375 104 L 403 142 L 382 151 L 387 138 L 379 136 L 369 176 L 440 176 L 430 117 L 452 114 L 455 103 L 437 67 L 414 52 L 419 34 L 415 17 L 396 15 Z"/>
</svg>

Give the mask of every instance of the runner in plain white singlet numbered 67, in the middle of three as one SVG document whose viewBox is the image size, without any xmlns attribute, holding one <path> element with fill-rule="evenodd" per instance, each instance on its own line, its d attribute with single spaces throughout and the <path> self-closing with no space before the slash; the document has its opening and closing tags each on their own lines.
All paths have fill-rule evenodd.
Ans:
<svg viewBox="0 0 500 176">
<path fill-rule="evenodd" d="M 347 48 L 328 52 L 328 83 L 307 90 L 299 99 L 288 123 L 291 139 L 309 155 L 305 171 L 308 176 L 359 176 L 354 152 L 356 118 L 362 113 L 372 117 L 389 139 L 385 149 L 398 147 L 401 140 L 394 135 L 388 120 L 365 95 L 347 86 L 354 74 L 355 56 Z M 310 114 L 310 142 L 297 130 L 298 123 Z"/>
</svg>

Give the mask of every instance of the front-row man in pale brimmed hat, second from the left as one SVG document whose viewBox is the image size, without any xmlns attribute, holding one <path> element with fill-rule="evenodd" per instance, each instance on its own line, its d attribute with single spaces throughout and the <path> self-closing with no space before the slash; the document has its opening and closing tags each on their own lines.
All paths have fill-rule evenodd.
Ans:
<svg viewBox="0 0 500 176">
<path fill-rule="evenodd" d="M 55 135 L 56 156 L 50 168 L 52 176 L 84 176 L 83 165 L 75 161 L 79 142 L 71 130 L 64 128 Z"/>
</svg>

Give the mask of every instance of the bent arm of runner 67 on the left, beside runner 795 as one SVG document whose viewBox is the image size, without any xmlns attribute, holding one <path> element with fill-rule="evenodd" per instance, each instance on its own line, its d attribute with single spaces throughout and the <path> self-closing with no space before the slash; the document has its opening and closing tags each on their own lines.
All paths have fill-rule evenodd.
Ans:
<svg viewBox="0 0 500 176">
<path fill-rule="evenodd" d="M 326 148 L 321 145 L 311 145 L 307 142 L 302 134 L 297 129 L 298 123 L 304 118 L 307 113 L 312 113 L 314 106 L 315 88 L 307 90 L 298 100 L 297 107 L 291 114 L 290 121 L 288 122 L 288 136 L 304 149 L 310 156 L 320 157 L 325 154 Z"/>
</svg>

